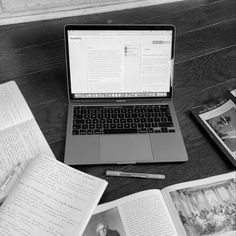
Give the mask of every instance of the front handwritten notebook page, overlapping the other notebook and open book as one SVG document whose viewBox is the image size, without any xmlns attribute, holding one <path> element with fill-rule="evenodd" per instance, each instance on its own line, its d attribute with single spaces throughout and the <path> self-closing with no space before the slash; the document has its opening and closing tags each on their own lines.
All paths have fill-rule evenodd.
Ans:
<svg viewBox="0 0 236 236">
<path fill-rule="evenodd" d="M 106 181 L 57 160 L 32 160 L 0 208 L 0 235 L 81 235 Z"/>
</svg>

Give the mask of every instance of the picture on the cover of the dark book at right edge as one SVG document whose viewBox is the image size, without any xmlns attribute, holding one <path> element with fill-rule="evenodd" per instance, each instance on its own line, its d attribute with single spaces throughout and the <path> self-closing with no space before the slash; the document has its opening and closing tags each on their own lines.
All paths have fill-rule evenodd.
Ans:
<svg viewBox="0 0 236 236">
<path fill-rule="evenodd" d="M 231 150 L 236 151 L 236 109 L 232 107 L 225 113 L 207 120 L 224 144 Z"/>
</svg>

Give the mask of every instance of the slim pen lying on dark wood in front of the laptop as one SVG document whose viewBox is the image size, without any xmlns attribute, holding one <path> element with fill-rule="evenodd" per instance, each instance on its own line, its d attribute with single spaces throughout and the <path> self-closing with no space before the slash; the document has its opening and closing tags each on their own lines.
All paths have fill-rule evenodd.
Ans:
<svg viewBox="0 0 236 236">
<path fill-rule="evenodd" d="M 123 171 L 106 171 L 107 176 L 131 177 L 131 178 L 144 178 L 144 179 L 165 179 L 165 175 L 147 174 L 147 173 L 133 173 Z"/>
</svg>

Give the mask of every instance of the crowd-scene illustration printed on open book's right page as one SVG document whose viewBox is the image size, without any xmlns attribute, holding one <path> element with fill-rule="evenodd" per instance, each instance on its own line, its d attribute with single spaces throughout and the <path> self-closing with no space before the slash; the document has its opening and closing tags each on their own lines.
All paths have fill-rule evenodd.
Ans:
<svg viewBox="0 0 236 236">
<path fill-rule="evenodd" d="M 236 233 L 236 179 L 170 192 L 187 236 Z"/>
</svg>

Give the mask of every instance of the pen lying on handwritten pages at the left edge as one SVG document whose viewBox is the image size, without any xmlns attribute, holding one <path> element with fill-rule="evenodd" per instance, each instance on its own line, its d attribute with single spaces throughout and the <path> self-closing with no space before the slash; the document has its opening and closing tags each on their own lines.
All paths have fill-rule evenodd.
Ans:
<svg viewBox="0 0 236 236">
<path fill-rule="evenodd" d="M 9 174 L 4 184 L 0 187 L 0 204 L 5 200 L 10 188 L 12 187 L 15 180 L 17 179 L 20 168 L 21 168 L 21 163 L 19 162 L 15 166 L 15 168 L 12 170 L 12 172 Z"/>
</svg>

